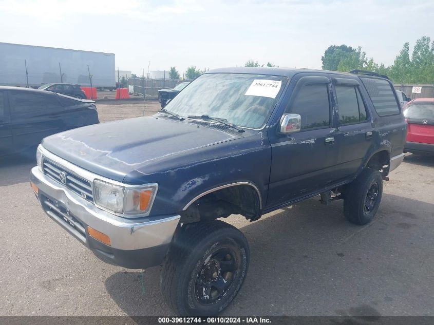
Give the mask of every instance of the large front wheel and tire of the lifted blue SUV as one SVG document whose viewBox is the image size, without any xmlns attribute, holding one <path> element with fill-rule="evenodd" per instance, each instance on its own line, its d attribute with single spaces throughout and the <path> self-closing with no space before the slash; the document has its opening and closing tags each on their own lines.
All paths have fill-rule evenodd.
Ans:
<svg viewBox="0 0 434 325">
<path fill-rule="evenodd" d="M 246 278 L 249 244 L 219 220 L 180 228 L 161 275 L 161 290 L 180 316 L 212 316 L 228 307 Z"/>
</svg>

